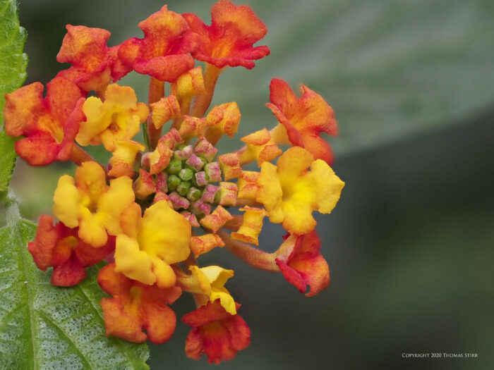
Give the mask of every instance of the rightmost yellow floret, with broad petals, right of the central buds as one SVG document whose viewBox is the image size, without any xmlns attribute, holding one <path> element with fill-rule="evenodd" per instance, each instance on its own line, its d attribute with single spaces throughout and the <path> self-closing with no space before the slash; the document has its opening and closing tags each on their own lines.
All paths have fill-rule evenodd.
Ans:
<svg viewBox="0 0 494 370">
<path fill-rule="evenodd" d="M 279 157 L 277 166 L 263 163 L 258 185 L 256 199 L 264 204 L 270 221 L 301 235 L 315 227 L 313 211 L 331 213 L 344 183 L 325 161 L 314 161 L 306 149 L 292 147 Z"/>
</svg>

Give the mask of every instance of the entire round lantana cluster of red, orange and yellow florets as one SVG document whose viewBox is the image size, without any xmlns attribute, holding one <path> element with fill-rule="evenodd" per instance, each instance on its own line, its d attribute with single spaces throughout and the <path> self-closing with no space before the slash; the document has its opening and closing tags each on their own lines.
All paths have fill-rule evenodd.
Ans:
<svg viewBox="0 0 494 370">
<path fill-rule="evenodd" d="M 282 273 L 309 297 L 326 288 L 313 212 L 329 214 L 344 186 L 320 137 L 336 135 L 337 123 L 319 94 L 301 85 L 297 96 L 274 79 L 266 105 L 277 123 L 221 154 L 215 146 L 237 132 L 241 111 L 235 101 L 210 107 L 217 79 L 270 54 L 254 46 L 267 28 L 230 1 L 212 6 L 210 25 L 163 6 L 138 27 L 143 37 L 108 46 L 107 30 L 67 25 L 56 60 L 70 67 L 45 95 L 40 82 L 6 95 L 5 128 L 20 137 L 20 157 L 32 166 L 78 166 L 59 178 L 56 219 L 41 216 L 28 249 L 59 286 L 80 283 L 88 266 L 106 261 L 98 282 L 109 295 L 101 300 L 107 335 L 132 342 L 169 340 L 170 306 L 191 293 L 197 309 L 182 318 L 192 328 L 186 355 L 219 363 L 248 346 L 250 330 L 225 288 L 234 271 L 201 266 L 200 256 L 225 248 Z M 147 103 L 116 83 L 132 71 L 150 77 Z M 141 130 L 144 143 L 135 141 Z M 108 164 L 86 152 L 92 145 L 112 154 Z M 245 169 L 251 162 L 258 171 Z M 267 220 L 287 230 L 273 253 L 258 247 Z"/>
</svg>

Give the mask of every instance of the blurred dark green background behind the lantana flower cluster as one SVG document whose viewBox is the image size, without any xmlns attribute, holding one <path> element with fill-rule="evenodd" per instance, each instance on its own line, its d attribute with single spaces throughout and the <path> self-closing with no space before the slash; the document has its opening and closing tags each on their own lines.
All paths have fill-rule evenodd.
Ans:
<svg viewBox="0 0 494 370">
<path fill-rule="evenodd" d="M 215 1 L 169 1 L 209 23 Z M 320 93 L 335 109 L 335 171 L 347 185 L 331 215 L 318 217 L 332 283 L 306 298 L 281 275 L 253 271 L 219 249 L 201 264 L 236 276 L 252 343 L 222 369 L 493 369 L 494 2 L 492 0 L 246 0 L 267 25 L 272 54 L 248 71 L 229 68 L 214 103 L 235 100 L 239 137 L 275 118 L 271 78 Z M 109 44 L 141 37 L 156 0 L 20 0 L 28 30 L 26 83 L 51 80 L 65 25 L 102 27 Z M 146 100 L 147 79 L 129 75 Z M 96 155 L 98 155 L 96 153 Z M 22 211 L 49 213 L 61 173 L 18 161 L 12 187 Z M 282 229 L 265 226 L 266 250 Z M 177 316 L 193 309 L 189 297 Z M 188 327 L 151 346 L 152 369 L 202 369 L 183 353 Z M 478 359 L 402 359 L 402 353 L 478 354 Z"/>
</svg>

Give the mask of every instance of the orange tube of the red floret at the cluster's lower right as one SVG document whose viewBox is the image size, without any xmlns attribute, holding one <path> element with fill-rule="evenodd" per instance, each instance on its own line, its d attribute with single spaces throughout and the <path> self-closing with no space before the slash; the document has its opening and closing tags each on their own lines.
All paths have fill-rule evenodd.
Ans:
<svg viewBox="0 0 494 370">
<path fill-rule="evenodd" d="M 246 245 L 243 242 L 232 240 L 230 235 L 224 230 L 218 230 L 217 235 L 224 241 L 224 246 L 230 252 L 243 260 L 246 264 L 255 267 L 256 269 L 279 272 L 279 268 L 275 259 L 277 252 L 267 253 L 251 245 Z"/>
</svg>

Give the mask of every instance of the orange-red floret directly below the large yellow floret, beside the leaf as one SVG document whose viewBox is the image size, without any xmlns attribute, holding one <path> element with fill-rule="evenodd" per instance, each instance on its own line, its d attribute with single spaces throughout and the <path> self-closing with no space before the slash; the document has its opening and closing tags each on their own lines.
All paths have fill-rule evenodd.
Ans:
<svg viewBox="0 0 494 370">
<path fill-rule="evenodd" d="M 156 285 L 141 284 L 116 272 L 115 264 L 100 270 L 98 283 L 113 296 L 101 300 L 107 335 L 136 343 L 146 338 L 155 344 L 169 340 L 175 331 L 176 316 L 167 304 L 180 297 L 180 288 L 160 289 Z"/>
</svg>

